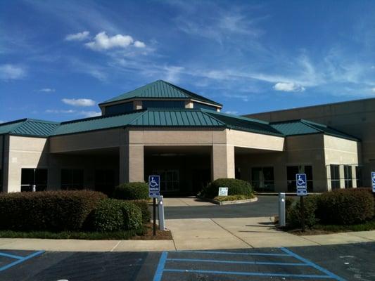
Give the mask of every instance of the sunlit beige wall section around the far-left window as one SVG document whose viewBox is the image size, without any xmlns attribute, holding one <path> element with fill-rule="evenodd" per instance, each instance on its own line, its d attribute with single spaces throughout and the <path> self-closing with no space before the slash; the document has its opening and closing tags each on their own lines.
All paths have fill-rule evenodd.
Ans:
<svg viewBox="0 0 375 281">
<path fill-rule="evenodd" d="M 4 191 L 20 191 L 21 169 L 48 168 L 48 154 L 47 138 L 9 136 L 8 171 L 4 175 Z"/>
</svg>

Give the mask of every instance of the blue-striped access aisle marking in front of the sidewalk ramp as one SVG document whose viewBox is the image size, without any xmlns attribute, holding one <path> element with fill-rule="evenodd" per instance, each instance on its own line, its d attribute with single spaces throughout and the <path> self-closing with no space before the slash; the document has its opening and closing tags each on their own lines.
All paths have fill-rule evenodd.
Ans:
<svg viewBox="0 0 375 281">
<path fill-rule="evenodd" d="M 331 271 L 318 266 L 312 261 L 309 261 L 298 254 L 295 254 L 293 251 L 286 249 L 284 247 L 279 248 L 280 253 L 263 253 L 263 252 L 239 252 L 239 251 L 163 251 L 158 267 L 155 271 L 155 275 L 153 277 L 153 281 L 161 281 L 163 279 L 163 273 L 198 273 L 198 274 L 208 274 L 208 275 L 238 275 L 238 276 L 248 276 L 248 277 L 293 277 L 293 278 L 301 278 L 301 279 L 326 279 L 326 280 L 338 280 L 338 281 L 345 281 L 343 278 L 331 273 Z M 178 253 L 178 257 L 175 256 L 175 253 Z M 170 254 L 170 256 L 168 256 Z M 190 257 L 184 258 L 186 254 L 194 254 L 198 255 L 199 258 L 191 259 Z M 212 255 L 222 255 L 225 259 L 204 259 L 206 256 L 205 254 L 212 254 Z M 189 256 L 189 255 L 188 255 Z M 248 261 L 248 260 L 234 260 L 234 256 L 243 256 L 249 257 L 253 256 L 257 259 L 260 257 L 272 257 L 276 259 L 281 259 L 278 261 Z M 231 259 L 232 257 L 232 259 Z M 293 259 L 293 262 L 285 262 L 283 259 Z M 186 265 L 189 265 L 187 266 Z M 266 272 L 265 270 L 256 270 L 255 272 L 247 272 L 242 270 L 215 270 L 215 265 L 222 264 L 224 265 L 227 263 L 228 265 L 256 265 L 256 266 L 267 266 L 268 268 L 278 268 L 277 272 Z M 192 265 L 192 266 L 190 266 Z M 205 265 L 209 266 L 211 269 L 200 269 L 195 268 L 196 265 Z M 174 268 L 171 268 L 171 266 Z M 294 274 L 290 272 L 290 268 L 299 267 L 302 269 L 302 273 Z M 189 267 L 189 268 L 188 268 Z M 281 272 L 279 272 L 279 270 Z M 317 274 L 311 274 L 311 270 L 317 271 Z M 264 271 L 264 272 L 262 272 Z M 283 272 L 285 271 L 285 272 Z"/>
</svg>

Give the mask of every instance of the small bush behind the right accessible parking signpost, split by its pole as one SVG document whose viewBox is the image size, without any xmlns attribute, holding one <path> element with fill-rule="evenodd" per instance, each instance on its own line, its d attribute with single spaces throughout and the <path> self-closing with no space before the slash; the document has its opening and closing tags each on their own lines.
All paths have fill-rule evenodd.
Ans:
<svg viewBox="0 0 375 281">
<path fill-rule="evenodd" d="M 317 200 L 319 195 L 312 195 L 305 197 L 304 207 L 305 207 L 305 226 L 307 228 L 312 228 L 315 223 L 317 223 L 317 218 L 315 217 L 315 212 L 317 211 Z M 300 228 L 302 225 L 302 216 L 300 213 L 300 201 L 295 200 L 289 205 L 288 211 L 286 211 L 286 223 L 291 228 Z"/>
</svg>

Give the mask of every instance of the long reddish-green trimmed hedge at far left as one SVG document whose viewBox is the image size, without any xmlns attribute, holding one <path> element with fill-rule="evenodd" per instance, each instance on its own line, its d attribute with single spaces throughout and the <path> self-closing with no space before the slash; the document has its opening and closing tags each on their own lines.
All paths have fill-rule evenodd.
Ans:
<svg viewBox="0 0 375 281">
<path fill-rule="evenodd" d="M 104 198 L 103 193 L 88 190 L 2 193 L 0 229 L 80 230 Z"/>
</svg>

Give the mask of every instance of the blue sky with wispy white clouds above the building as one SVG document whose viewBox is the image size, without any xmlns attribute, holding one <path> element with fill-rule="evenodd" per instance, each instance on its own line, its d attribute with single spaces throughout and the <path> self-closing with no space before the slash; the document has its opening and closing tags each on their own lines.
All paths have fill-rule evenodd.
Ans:
<svg viewBox="0 0 375 281">
<path fill-rule="evenodd" d="M 0 121 L 164 79 L 252 112 L 375 97 L 375 1 L 0 1 Z"/>
</svg>

